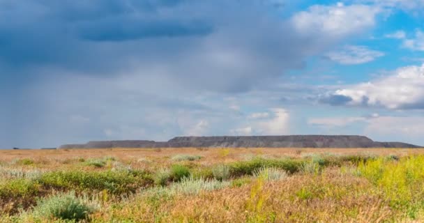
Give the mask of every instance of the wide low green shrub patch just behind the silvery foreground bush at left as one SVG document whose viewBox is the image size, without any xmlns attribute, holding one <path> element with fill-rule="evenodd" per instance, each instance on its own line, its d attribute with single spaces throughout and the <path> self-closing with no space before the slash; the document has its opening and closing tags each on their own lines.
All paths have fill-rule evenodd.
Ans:
<svg viewBox="0 0 424 223">
<path fill-rule="evenodd" d="M 39 180 L 45 187 L 67 190 L 108 190 L 114 194 L 135 192 L 153 183 L 146 173 L 137 171 L 54 171 Z"/>
</svg>

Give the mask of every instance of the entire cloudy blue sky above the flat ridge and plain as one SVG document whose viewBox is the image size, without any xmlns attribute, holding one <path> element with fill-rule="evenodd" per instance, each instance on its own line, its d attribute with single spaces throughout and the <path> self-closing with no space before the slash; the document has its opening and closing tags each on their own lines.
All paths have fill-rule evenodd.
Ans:
<svg viewBox="0 0 424 223">
<path fill-rule="evenodd" d="M 0 148 L 361 134 L 424 145 L 423 0 L 0 0 Z"/>
</svg>

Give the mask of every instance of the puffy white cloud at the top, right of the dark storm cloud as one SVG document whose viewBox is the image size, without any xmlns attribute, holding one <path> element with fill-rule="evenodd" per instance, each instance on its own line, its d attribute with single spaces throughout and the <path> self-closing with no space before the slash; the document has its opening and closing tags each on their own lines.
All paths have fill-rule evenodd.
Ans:
<svg viewBox="0 0 424 223">
<path fill-rule="evenodd" d="M 379 12 L 377 7 L 362 4 L 315 5 L 306 11 L 296 13 L 292 17 L 292 22 L 301 33 L 340 38 L 361 33 L 374 26 L 375 17 Z"/>
</svg>

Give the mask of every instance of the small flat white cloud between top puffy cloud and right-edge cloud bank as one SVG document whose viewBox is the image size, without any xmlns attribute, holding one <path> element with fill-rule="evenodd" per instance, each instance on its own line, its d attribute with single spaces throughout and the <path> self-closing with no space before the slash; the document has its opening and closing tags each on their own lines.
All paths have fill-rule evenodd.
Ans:
<svg viewBox="0 0 424 223">
<path fill-rule="evenodd" d="M 368 63 L 380 56 L 384 56 L 384 53 L 368 49 L 368 47 L 354 45 L 346 45 L 340 51 L 326 54 L 326 57 L 331 61 L 345 65 Z"/>
</svg>

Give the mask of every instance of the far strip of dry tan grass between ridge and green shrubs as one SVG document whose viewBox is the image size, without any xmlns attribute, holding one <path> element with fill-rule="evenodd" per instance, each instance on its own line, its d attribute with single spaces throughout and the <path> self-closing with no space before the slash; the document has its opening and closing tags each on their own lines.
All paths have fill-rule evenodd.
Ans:
<svg viewBox="0 0 424 223">
<path fill-rule="evenodd" d="M 228 151 L 222 153 L 222 151 Z M 112 148 L 112 149 L 58 149 L 58 150 L 0 150 L 0 161 L 11 162 L 17 159 L 31 158 L 38 163 L 63 164 L 64 160 L 76 157 L 100 158 L 116 157 L 124 162 L 135 162 L 140 159 L 165 161 L 169 157 L 180 154 L 201 155 L 200 163 L 221 163 L 243 160 L 249 156 L 295 157 L 305 154 L 334 155 L 414 155 L 424 154 L 424 150 L 415 148 Z"/>
</svg>

